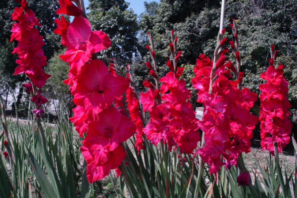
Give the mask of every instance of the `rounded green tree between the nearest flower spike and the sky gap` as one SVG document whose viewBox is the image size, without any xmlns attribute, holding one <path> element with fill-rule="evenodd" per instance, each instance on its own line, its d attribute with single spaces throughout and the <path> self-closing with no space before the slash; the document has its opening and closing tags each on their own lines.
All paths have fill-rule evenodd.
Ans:
<svg viewBox="0 0 297 198">
<path fill-rule="evenodd" d="M 88 18 L 93 29 L 105 32 L 112 43 L 99 54 L 107 63 L 116 58 L 119 65 L 130 64 L 137 53 L 137 15 L 127 8 L 124 0 L 90 0 Z"/>
</svg>

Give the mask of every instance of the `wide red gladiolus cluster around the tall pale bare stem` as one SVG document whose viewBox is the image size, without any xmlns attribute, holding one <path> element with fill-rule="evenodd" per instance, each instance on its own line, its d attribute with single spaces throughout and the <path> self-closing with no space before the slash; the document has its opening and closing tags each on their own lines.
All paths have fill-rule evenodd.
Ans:
<svg viewBox="0 0 297 198">
<path fill-rule="evenodd" d="M 198 126 L 204 132 L 205 145 L 198 149 L 198 153 L 210 165 L 211 173 L 218 172 L 223 165 L 227 168 L 236 165 L 238 156 L 250 151 L 252 130 L 258 121 L 249 112 L 257 95 L 247 88 L 237 88 L 242 77 L 236 81 L 229 80 L 231 70 L 236 69 L 230 61 L 225 64 L 227 51 L 222 50 L 216 62 L 212 93 L 209 93 L 209 82 L 213 62 L 204 54 L 197 59 L 192 79 L 193 87 L 198 90 L 197 101 L 204 106 Z M 225 161 L 221 160 L 222 156 Z"/>
</svg>

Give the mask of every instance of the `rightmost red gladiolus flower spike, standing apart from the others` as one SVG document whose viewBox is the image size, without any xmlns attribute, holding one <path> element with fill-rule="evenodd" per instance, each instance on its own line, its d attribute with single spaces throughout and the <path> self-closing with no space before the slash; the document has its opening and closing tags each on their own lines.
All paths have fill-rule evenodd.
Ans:
<svg viewBox="0 0 297 198">
<path fill-rule="evenodd" d="M 291 104 L 286 95 L 289 83 L 283 77 L 284 65 L 280 64 L 277 69 L 274 67 L 277 50 L 274 50 L 272 46 L 271 51 L 274 55 L 269 61 L 270 66 L 260 76 L 267 82 L 259 86 L 261 90 L 259 114 L 261 147 L 274 155 L 274 143 L 277 143 L 278 152 L 282 152 L 283 148 L 289 144 L 292 125 L 288 110 Z"/>
</svg>

